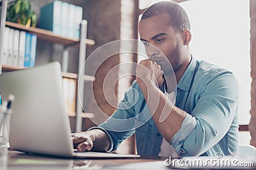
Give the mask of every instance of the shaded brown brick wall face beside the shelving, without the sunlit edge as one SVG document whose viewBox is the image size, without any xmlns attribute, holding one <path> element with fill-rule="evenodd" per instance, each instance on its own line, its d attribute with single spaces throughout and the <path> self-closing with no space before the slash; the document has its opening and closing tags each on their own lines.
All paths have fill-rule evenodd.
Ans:
<svg viewBox="0 0 256 170">
<path fill-rule="evenodd" d="M 84 5 L 84 11 L 86 11 L 86 19 L 88 20 L 88 38 L 95 40 L 95 45 L 87 46 L 86 56 L 90 55 L 94 50 L 99 48 L 106 43 L 111 41 L 120 39 L 120 0 L 86 0 L 86 5 Z M 81 1 L 83 3 L 83 1 Z M 86 62 L 86 74 L 94 74 L 92 70 L 98 67 L 99 62 L 104 60 L 106 56 L 102 54 L 101 56 L 97 56 L 93 58 L 93 62 Z M 114 55 L 110 57 L 108 60 L 105 60 L 97 69 L 95 74 L 96 80 L 92 83 L 85 83 L 84 90 L 84 109 L 87 112 L 94 113 L 95 120 L 104 120 L 102 114 L 111 115 L 115 108 L 111 106 L 108 101 L 106 101 L 106 97 L 108 96 L 108 100 L 110 100 L 111 104 L 117 105 L 115 102 L 115 95 L 117 95 L 116 87 L 113 92 L 113 87 L 109 86 L 103 90 L 103 82 L 109 84 L 109 82 L 118 79 L 117 72 L 111 72 L 111 77 L 108 80 L 104 80 L 106 78 L 106 74 L 119 64 L 119 55 Z M 104 87 L 105 88 L 105 87 Z M 93 89 L 93 92 L 92 92 Z M 96 101 L 96 103 L 95 103 Z M 92 127 L 94 124 L 90 120 L 84 120 L 83 130 L 88 129 L 88 127 Z"/>
</svg>

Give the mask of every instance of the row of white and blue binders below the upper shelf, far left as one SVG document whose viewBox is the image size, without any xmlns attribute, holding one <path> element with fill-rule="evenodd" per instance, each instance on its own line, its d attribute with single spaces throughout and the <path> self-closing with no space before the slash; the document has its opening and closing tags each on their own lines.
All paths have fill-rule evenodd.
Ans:
<svg viewBox="0 0 256 170">
<path fill-rule="evenodd" d="M 14 67 L 35 66 L 36 41 L 35 34 L 5 27 L 2 64 Z"/>
</svg>

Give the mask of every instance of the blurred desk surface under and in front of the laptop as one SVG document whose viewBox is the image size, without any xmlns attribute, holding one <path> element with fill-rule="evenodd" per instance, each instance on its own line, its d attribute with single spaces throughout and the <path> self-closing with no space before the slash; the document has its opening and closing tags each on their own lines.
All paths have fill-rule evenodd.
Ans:
<svg viewBox="0 0 256 170">
<path fill-rule="evenodd" d="M 8 163 L 1 170 L 10 169 L 168 169 L 162 157 L 137 159 L 58 159 L 8 151 Z"/>
</svg>

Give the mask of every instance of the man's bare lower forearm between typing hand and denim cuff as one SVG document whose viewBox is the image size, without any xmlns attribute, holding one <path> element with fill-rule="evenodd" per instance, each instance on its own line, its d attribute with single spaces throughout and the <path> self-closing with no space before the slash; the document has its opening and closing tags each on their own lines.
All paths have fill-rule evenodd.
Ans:
<svg viewBox="0 0 256 170">
<path fill-rule="evenodd" d="M 100 129 L 92 129 L 87 131 L 92 140 L 93 140 L 93 147 L 92 151 L 96 152 L 106 152 L 109 148 L 110 142 L 107 134 Z"/>
</svg>

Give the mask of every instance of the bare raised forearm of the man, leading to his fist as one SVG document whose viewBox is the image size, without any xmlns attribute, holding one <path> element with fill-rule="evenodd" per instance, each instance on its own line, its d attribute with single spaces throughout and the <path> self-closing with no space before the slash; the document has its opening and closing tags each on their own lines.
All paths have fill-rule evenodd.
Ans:
<svg viewBox="0 0 256 170">
<path fill-rule="evenodd" d="M 147 85 L 145 84 L 147 83 Z M 179 131 L 182 121 L 186 117 L 186 111 L 180 110 L 152 81 L 139 81 L 143 96 L 159 132 L 166 141 L 170 142 L 176 132 Z M 161 114 L 166 118 L 163 122 L 159 119 Z M 167 116 L 168 115 L 168 116 Z"/>
</svg>

